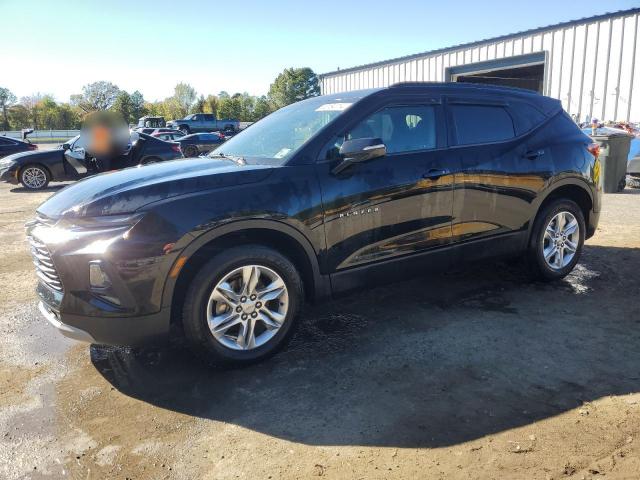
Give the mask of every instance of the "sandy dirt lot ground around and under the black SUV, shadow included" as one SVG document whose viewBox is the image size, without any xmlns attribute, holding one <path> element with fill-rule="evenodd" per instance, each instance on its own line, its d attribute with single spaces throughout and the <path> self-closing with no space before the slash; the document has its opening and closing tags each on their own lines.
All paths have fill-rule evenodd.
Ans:
<svg viewBox="0 0 640 480">
<path fill-rule="evenodd" d="M 233 371 L 49 327 L 22 228 L 48 195 L 0 186 L 0 478 L 640 478 L 640 190 L 563 282 L 491 264 L 317 305 Z"/>
</svg>

